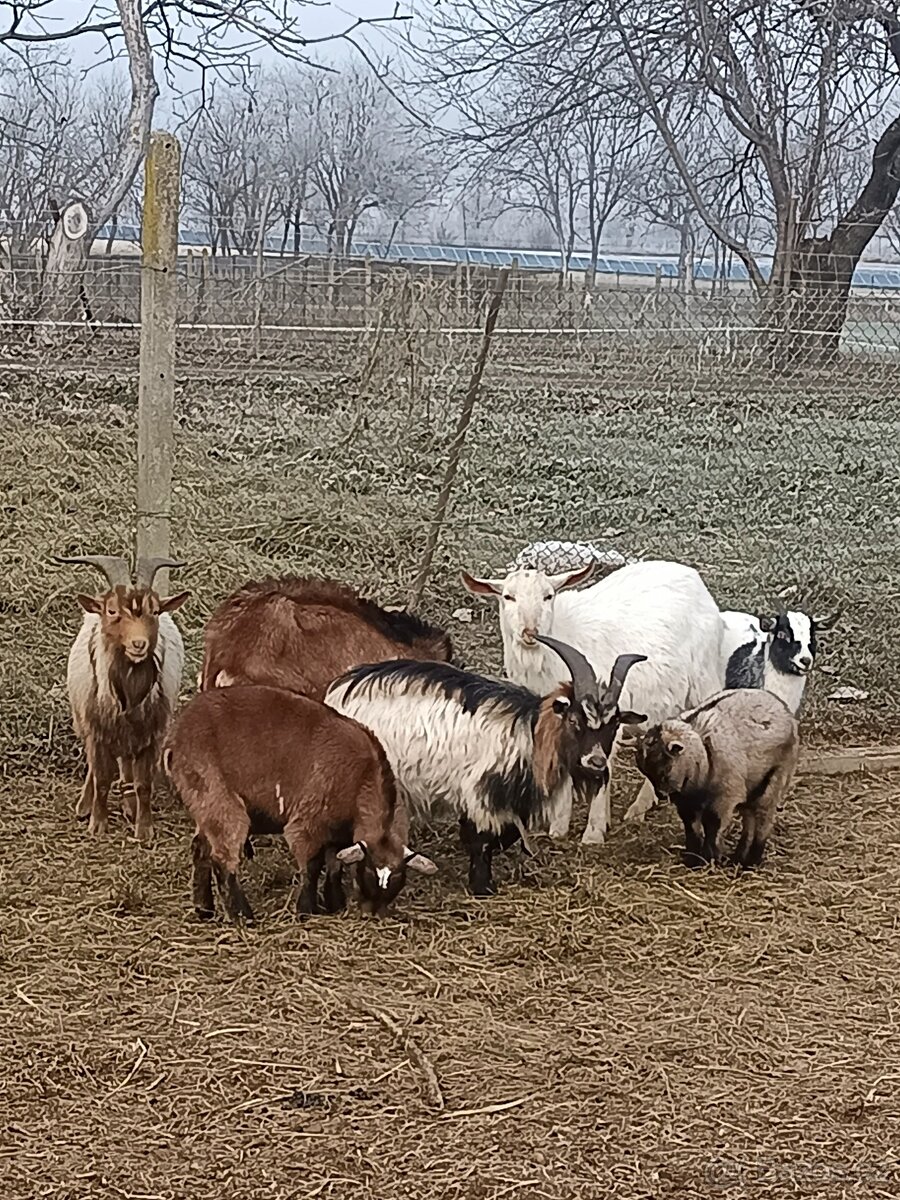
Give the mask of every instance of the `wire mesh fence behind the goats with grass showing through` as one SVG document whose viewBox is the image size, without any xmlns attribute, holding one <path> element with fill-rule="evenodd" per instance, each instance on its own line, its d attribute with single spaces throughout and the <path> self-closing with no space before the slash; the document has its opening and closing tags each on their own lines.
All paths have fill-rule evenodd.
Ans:
<svg viewBox="0 0 900 1200">
<path fill-rule="evenodd" d="M 91 260 L 67 322 L 41 317 L 44 288 L 34 262 L 0 272 L 6 769 L 72 752 L 64 664 L 86 581 L 50 556 L 133 533 L 139 264 Z M 322 572 L 403 602 L 492 288 L 464 265 L 179 262 L 173 547 L 194 666 L 205 617 L 250 576 Z M 724 608 L 840 605 L 809 731 L 889 739 L 900 306 L 852 296 L 832 359 L 791 361 L 793 332 L 746 290 L 515 275 L 424 605 L 461 658 L 500 664 L 461 566 L 502 575 L 535 541 L 671 557 Z"/>
</svg>

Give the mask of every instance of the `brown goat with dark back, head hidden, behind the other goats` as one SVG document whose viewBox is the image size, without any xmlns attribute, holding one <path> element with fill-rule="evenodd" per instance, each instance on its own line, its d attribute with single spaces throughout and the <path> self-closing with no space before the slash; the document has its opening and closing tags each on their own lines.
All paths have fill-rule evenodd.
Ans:
<svg viewBox="0 0 900 1200">
<path fill-rule="evenodd" d="M 266 684 L 322 700 L 360 662 L 449 661 L 450 638 L 407 612 L 380 608 L 330 580 L 245 583 L 206 623 L 200 690 Z"/>
</svg>

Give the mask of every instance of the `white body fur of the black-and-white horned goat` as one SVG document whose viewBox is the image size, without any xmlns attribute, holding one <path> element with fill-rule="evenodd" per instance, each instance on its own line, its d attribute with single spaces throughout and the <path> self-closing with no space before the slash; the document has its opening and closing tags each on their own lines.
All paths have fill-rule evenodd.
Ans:
<svg viewBox="0 0 900 1200">
<path fill-rule="evenodd" d="M 401 690 L 402 686 L 402 690 Z M 497 706 L 484 704 L 474 713 L 462 703 L 418 685 L 391 688 L 367 680 L 347 697 L 348 684 L 332 684 L 325 703 L 370 728 L 384 746 L 397 779 L 397 788 L 410 812 L 433 818 L 467 816 L 479 829 L 500 833 L 517 824 L 510 810 L 497 811 L 480 800 L 481 779 L 504 772 L 516 762 L 530 764 L 534 740 L 530 725 L 516 721 Z M 566 775 L 550 797 L 544 818 L 551 835 L 568 829 L 572 782 Z"/>
</svg>

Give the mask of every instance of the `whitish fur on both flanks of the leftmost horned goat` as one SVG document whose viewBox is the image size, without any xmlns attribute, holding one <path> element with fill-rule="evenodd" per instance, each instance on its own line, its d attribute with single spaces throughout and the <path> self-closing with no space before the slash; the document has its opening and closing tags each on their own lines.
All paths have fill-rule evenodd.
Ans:
<svg viewBox="0 0 900 1200">
<path fill-rule="evenodd" d="M 160 616 L 156 658 L 160 661 L 160 677 L 151 695 L 162 694 L 169 703 L 169 710 L 174 712 L 185 666 L 185 643 L 178 625 L 167 612 Z M 86 714 L 95 697 L 98 707 L 110 713 L 119 712 L 119 701 L 109 688 L 109 652 L 100 631 L 100 617 L 96 613 L 85 613 L 78 636 L 68 652 L 66 668 L 72 721 L 82 740 L 88 728 Z"/>
</svg>

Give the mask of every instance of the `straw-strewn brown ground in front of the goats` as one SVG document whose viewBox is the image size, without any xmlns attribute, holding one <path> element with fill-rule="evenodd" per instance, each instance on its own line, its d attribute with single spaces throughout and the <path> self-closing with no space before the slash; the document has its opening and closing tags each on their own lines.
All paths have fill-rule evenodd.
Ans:
<svg viewBox="0 0 900 1200">
<path fill-rule="evenodd" d="M 142 850 L 77 791 L 0 785 L 10 1200 L 898 1194 L 900 776 L 802 780 L 744 877 L 666 810 L 490 901 L 426 839 L 383 922 L 299 923 L 263 839 L 247 931 L 194 919 L 176 800 Z"/>
</svg>

